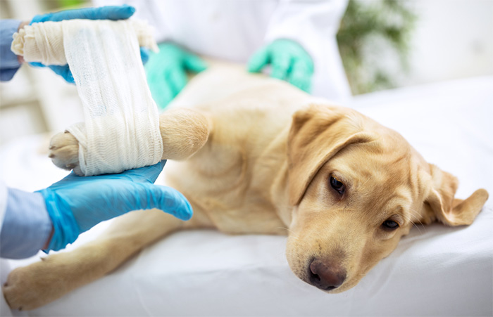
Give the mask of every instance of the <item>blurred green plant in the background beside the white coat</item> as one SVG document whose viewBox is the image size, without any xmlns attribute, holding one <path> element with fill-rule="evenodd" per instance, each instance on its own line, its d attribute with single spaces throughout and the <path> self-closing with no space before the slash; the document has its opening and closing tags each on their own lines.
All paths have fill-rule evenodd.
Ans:
<svg viewBox="0 0 493 317">
<path fill-rule="evenodd" d="M 395 74 L 385 65 L 389 56 L 394 56 L 401 72 L 408 71 L 409 42 L 416 22 L 408 3 L 349 0 L 337 43 L 353 94 L 395 86 Z"/>
</svg>

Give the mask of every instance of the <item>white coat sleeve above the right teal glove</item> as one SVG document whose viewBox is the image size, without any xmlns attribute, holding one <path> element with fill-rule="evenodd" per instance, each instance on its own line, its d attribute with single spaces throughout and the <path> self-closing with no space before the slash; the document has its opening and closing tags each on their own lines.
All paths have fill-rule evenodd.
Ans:
<svg viewBox="0 0 493 317">
<path fill-rule="evenodd" d="M 315 68 L 313 95 L 339 102 L 351 96 L 335 37 L 346 7 L 347 0 L 280 0 L 265 37 L 303 46 Z"/>
</svg>

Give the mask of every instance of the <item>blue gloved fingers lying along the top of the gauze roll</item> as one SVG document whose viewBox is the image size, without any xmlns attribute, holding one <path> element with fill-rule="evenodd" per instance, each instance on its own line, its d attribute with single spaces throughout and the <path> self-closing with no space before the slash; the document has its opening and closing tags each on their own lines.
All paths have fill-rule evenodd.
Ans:
<svg viewBox="0 0 493 317">
<path fill-rule="evenodd" d="M 56 13 L 36 15 L 30 24 L 45 21 L 62 21 L 73 19 L 89 20 L 125 20 L 135 13 L 133 6 L 124 4 L 123 6 L 101 6 L 99 8 L 82 8 L 65 10 Z"/>
</svg>

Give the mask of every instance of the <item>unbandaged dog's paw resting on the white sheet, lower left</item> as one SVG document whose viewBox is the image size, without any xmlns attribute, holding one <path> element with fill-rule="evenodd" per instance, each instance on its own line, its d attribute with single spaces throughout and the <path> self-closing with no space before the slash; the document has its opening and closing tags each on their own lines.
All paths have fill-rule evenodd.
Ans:
<svg viewBox="0 0 493 317">
<path fill-rule="evenodd" d="M 1 287 L 11 309 L 28 311 L 43 306 L 64 294 L 56 274 L 47 271 L 44 261 L 11 271 Z"/>
</svg>

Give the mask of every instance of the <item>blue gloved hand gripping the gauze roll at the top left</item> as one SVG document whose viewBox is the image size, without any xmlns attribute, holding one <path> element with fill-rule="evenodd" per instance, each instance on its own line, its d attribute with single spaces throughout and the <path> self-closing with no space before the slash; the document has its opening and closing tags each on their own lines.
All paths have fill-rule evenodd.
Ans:
<svg viewBox="0 0 493 317">
<path fill-rule="evenodd" d="M 133 6 L 101 6 L 100 8 L 82 8 L 66 10 L 55 13 L 47 13 L 36 15 L 32 18 L 30 25 L 37 22 L 46 21 L 62 21 L 62 20 L 73 20 L 73 19 L 88 19 L 88 20 L 125 20 L 130 18 L 135 13 L 135 8 Z M 142 63 L 146 63 L 149 59 L 149 52 L 146 48 L 140 48 L 140 57 L 142 58 Z M 44 67 L 42 63 L 30 63 L 30 65 L 37 67 Z M 57 75 L 60 75 L 65 79 L 66 82 L 74 84 L 74 79 L 72 72 L 68 68 L 68 65 L 51 65 L 48 66 Z"/>
</svg>

